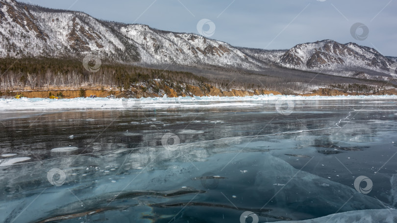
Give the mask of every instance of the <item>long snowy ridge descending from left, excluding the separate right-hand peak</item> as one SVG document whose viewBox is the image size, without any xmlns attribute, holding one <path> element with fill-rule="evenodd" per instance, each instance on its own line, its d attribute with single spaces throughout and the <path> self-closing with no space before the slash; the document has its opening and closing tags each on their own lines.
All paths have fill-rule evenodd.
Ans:
<svg viewBox="0 0 397 223">
<path fill-rule="evenodd" d="M 92 53 L 120 62 L 260 69 L 239 49 L 195 34 L 141 24 L 104 22 L 74 11 L 0 0 L 1 57 L 79 57 Z"/>
</svg>

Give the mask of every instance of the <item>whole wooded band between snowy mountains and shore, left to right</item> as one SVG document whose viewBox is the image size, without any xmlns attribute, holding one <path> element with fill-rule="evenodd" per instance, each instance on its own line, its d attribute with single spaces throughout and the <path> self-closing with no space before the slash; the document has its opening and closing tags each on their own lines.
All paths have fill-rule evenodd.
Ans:
<svg viewBox="0 0 397 223">
<path fill-rule="evenodd" d="M 89 63 L 89 67 L 95 66 L 93 64 L 95 61 Z M 256 91 L 255 94 L 265 94 L 271 91 L 282 94 L 302 94 L 319 92 L 318 90 L 322 88 L 338 90 L 341 93 L 384 94 L 385 90 L 396 87 L 391 83 L 381 81 L 318 85 L 299 83 L 298 78 L 291 79 L 290 77 L 288 81 L 287 77 L 254 73 L 239 73 L 231 80 L 224 78 L 221 71 L 211 73 L 210 70 L 202 69 L 202 72 L 206 75 L 197 75 L 189 71 L 138 67 L 111 61 L 104 61 L 98 70 L 91 72 L 83 66 L 80 60 L 71 58 L 3 58 L 0 59 L 0 92 L 2 95 L 13 96 L 24 91 L 117 89 L 125 92 L 125 96 L 134 97 L 129 93 L 131 89 L 150 92 L 151 94 L 147 95 L 158 96 L 173 89 L 174 96 L 193 96 L 211 95 L 211 93 L 227 95 L 222 91 L 231 89 Z M 230 76 L 229 74 L 233 71 L 223 70 L 222 72 Z M 262 82 L 255 83 L 257 76 L 263 78 Z M 219 90 L 211 92 L 211 88 Z M 219 93 L 216 93 L 218 91 Z M 325 94 L 324 91 L 322 92 L 320 94 Z"/>
</svg>

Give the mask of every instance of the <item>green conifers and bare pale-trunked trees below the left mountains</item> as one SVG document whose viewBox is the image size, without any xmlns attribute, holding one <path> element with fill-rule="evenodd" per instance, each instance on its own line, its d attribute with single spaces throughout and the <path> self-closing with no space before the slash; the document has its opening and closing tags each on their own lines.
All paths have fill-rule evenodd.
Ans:
<svg viewBox="0 0 397 223">
<path fill-rule="evenodd" d="M 23 58 L 0 59 L 0 91 L 49 89 L 69 87 L 113 87 L 128 89 L 138 83 L 152 80 L 199 85 L 210 83 L 205 77 L 191 72 L 171 71 L 125 64 L 102 64 L 97 72 L 86 70 L 81 61 L 73 59 Z"/>
</svg>

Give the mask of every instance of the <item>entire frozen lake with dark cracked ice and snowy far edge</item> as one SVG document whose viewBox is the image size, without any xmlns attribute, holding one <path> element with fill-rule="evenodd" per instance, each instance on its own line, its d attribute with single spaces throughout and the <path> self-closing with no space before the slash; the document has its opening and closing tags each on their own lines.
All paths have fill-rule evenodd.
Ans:
<svg viewBox="0 0 397 223">
<path fill-rule="evenodd" d="M 395 97 L 50 103 L 0 100 L 1 222 L 397 222 Z"/>
</svg>

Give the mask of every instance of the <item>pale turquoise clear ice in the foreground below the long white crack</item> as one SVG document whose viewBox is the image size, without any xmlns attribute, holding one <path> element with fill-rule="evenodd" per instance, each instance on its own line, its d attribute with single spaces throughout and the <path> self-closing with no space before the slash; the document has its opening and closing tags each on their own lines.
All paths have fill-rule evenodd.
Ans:
<svg viewBox="0 0 397 223">
<path fill-rule="evenodd" d="M 38 222 L 99 208 L 122 212 L 127 208 L 131 219 L 139 222 L 140 208 L 154 214 L 153 208 L 186 203 L 193 197 L 195 206 L 185 210 L 184 215 L 201 211 L 206 205 L 231 206 L 220 191 L 230 197 L 237 194 L 241 198 L 236 201 L 240 210 L 250 207 L 258 215 L 266 214 L 273 220 L 321 217 L 335 213 L 345 202 L 340 212 L 383 209 L 386 205 L 351 187 L 299 171 L 270 153 L 237 153 L 247 146 L 246 141 L 233 138 L 182 144 L 176 151 L 155 147 L 134 153 L 125 150 L 27 163 L 19 167 L 24 168 L 22 173 L 18 169 L 3 172 L 1 187 L 34 185 L 34 188 L 25 187 L 24 196 L 10 195 L 12 200 L 1 202 L 0 212 L 12 221 L 36 199 L 19 221 Z M 63 185 L 50 185 L 46 171 L 52 168 L 64 170 Z M 212 184 L 203 184 L 205 178 L 217 178 L 219 185 L 207 188 L 205 185 Z M 233 185 L 232 191 L 229 185 Z M 225 208 L 215 207 L 211 211 L 222 216 Z"/>
</svg>

